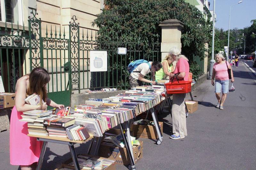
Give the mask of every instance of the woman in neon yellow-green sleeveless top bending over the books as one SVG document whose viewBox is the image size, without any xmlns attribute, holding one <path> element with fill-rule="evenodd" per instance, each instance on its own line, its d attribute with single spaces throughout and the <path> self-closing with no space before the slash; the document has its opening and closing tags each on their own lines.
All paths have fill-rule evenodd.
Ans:
<svg viewBox="0 0 256 170">
<path fill-rule="evenodd" d="M 156 72 L 156 80 L 169 79 L 170 73 L 174 72 L 174 67 L 172 65 L 171 55 L 166 55 L 164 60 L 161 62 L 162 68 Z"/>
</svg>

